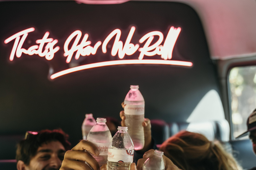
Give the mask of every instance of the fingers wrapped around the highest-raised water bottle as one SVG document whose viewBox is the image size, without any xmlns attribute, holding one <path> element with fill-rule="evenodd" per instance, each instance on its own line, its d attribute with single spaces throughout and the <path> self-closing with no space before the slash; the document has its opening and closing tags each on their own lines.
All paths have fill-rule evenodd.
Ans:
<svg viewBox="0 0 256 170">
<path fill-rule="evenodd" d="M 124 102 L 121 104 L 122 107 L 124 108 Z M 125 116 L 124 116 L 124 111 L 120 112 L 120 118 L 122 119 L 121 125 L 125 127 Z M 144 153 L 148 151 L 151 146 L 152 142 L 152 137 L 151 137 L 151 124 L 150 120 L 148 118 L 145 118 L 144 121 L 142 122 L 142 126 L 144 128 L 144 138 L 145 138 L 145 144 L 142 150 L 140 152 Z"/>
</svg>

